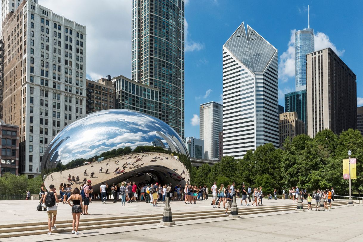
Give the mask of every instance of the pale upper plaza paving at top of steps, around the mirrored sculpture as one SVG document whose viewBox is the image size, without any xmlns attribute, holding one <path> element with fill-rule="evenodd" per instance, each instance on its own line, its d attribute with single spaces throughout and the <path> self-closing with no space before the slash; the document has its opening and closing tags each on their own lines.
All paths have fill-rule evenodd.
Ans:
<svg viewBox="0 0 363 242">
<path fill-rule="evenodd" d="M 170 206 L 172 212 L 190 212 L 198 210 L 212 209 L 210 205 L 212 199 L 209 198 L 205 201 L 197 201 L 196 204 L 184 204 L 181 201 L 171 201 Z M 240 204 L 241 200 L 237 198 L 237 204 Z M 263 200 L 264 205 L 291 205 L 294 204 L 292 200 Z M 47 221 L 47 214 L 44 211 L 36 211 L 36 207 L 39 204 L 38 200 L 12 200 L 12 201 L 0 201 L 0 224 L 3 223 L 16 223 L 16 222 L 30 222 L 30 221 Z M 91 216 L 81 216 L 82 218 L 103 218 L 110 216 L 123 216 L 123 215 L 135 215 L 135 214 L 162 214 L 164 204 L 158 202 L 158 207 L 150 206 L 146 202 L 132 202 L 127 203 L 126 206 L 121 206 L 121 201 L 113 203 L 113 200 L 107 201 L 107 204 L 102 204 L 101 200 L 92 200 L 89 205 L 88 212 Z M 250 206 L 246 206 L 250 207 Z M 68 204 L 58 203 L 57 220 L 70 220 L 72 219 L 71 208 Z"/>
</svg>

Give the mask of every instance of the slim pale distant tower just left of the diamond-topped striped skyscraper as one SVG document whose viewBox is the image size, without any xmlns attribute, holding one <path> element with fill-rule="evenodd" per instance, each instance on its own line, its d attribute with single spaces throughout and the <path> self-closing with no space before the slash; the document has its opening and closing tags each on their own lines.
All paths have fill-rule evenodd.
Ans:
<svg viewBox="0 0 363 242">
<path fill-rule="evenodd" d="M 200 104 L 200 139 L 204 140 L 204 159 L 218 160 L 219 132 L 223 128 L 223 106 L 216 102 Z"/>
</svg>

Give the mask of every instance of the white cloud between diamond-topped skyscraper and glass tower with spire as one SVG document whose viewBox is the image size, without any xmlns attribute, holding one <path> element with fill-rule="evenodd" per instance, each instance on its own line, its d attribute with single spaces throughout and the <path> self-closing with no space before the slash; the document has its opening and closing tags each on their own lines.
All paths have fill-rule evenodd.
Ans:
<svg viewBox="0 0 363 242">
<path fill-rule="evenodd" d="M 290 30 L 290 41 L 287 50 L 280 56 L 279 79 L 287 82 L 290 77 L 295 76 L 295 32 L 296 29 Z"/>
</svg>

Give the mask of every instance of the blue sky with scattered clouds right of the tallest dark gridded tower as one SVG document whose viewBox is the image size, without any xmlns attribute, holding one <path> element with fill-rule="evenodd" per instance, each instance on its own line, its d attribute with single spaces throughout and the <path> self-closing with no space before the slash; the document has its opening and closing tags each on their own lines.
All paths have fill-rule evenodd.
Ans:
<svg viewBox="0 0 363 242">
<path fill-rule="evenodd" d="M 295 90 L 294 30 L 314 29 L 315 48 L 331 47 L 357 75 L 363 106 L 363 1 L 188 0 L 185 5 L 185 137 L 199 138 L 199 104 L 221 102 L 222 46 L 245 22 L 278 49 L 279 102 Z M 197 115 L 197 116 L 196 116 Z"/>
</svg>

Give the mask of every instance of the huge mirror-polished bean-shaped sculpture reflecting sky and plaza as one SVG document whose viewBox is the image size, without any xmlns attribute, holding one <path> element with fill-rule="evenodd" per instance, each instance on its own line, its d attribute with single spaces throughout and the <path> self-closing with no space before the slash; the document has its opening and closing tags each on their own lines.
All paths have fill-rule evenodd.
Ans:
<svg viewBox="0 0 363 242">
<path fill-rule="evenodd" d="M 45 150 L 46 188 L 91 180 L 185 185 L 191 161 L 183 140 L 163 121 L 142 112 L 113 109 L 88 114 L 63 128 Z"/>
</svg>

